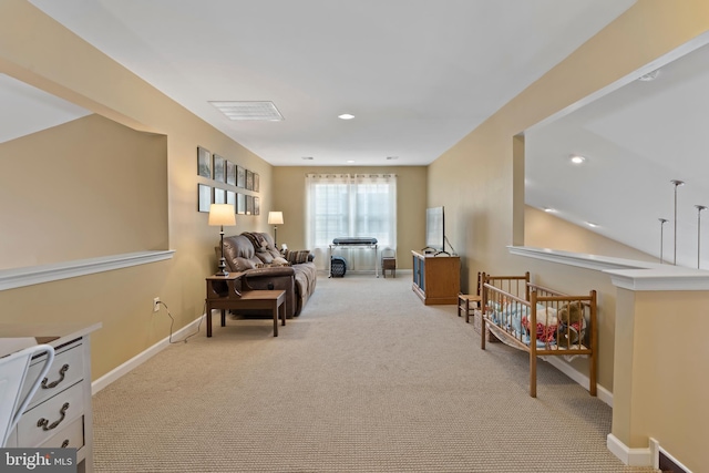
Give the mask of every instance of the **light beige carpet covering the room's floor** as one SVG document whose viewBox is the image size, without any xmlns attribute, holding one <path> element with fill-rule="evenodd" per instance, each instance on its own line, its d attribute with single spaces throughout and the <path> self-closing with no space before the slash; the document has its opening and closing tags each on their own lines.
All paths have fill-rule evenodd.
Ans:
<svg viewBox="0 0 709 473">
<path fill-rule="evenodd" d="M 410 277 L 320 276 L 278 338 L 215 315 L 94 397 L 96 471 L 653 471 L 608 452 L 610 408 L 546 363 L 530 398 L 525 356 Z"/>
</svg>

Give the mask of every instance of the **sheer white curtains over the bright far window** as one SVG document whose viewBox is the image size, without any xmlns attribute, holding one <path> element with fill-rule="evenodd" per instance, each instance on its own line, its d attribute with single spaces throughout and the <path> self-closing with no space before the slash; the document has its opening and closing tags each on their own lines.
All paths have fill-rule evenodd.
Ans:
<svg viewBox="0 0 709 473">
<path fill-rule="evenodd" d="M 379 249 L 397 248 L 397 176 L 394 174 L 306 175 L 308 248 L 327 268 L 335 238 L 373 237 Z M 373 254 L 372 254 L 373 255 Z M 374 261 L 369 261 L 372 267 Z"/>
</svg>

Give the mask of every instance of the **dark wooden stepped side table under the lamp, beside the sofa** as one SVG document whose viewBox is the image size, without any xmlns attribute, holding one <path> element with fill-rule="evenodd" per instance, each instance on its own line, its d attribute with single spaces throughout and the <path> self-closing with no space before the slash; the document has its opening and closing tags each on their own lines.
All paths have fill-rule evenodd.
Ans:
<svg viewBox="0 0 709 473">
<path fill-rule="evenodd" d="M 212 337 L 212 309 L 222 310 L 222 327 L 226 326 L 226 310 L 229 309 L 270 309 L 274 315 L 274 337 L 278 337 L 278 316 L 286 325 L 285 290 L 239 291 L 236 282 L 244 273 L 230 273 L 227 276 L 207 278 L 207 337 Z"/>
</svg>

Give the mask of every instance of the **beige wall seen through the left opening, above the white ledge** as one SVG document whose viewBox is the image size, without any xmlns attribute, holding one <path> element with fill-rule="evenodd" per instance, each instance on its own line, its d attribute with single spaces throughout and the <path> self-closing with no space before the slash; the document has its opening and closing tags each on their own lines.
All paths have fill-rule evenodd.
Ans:
<svg viewBox="0 0 709 473">
<path fill-rule="evenodd" d="M 0 144 L 0 269 L 167 248 L 165 136 L 89 115 Z"/>
</svg>

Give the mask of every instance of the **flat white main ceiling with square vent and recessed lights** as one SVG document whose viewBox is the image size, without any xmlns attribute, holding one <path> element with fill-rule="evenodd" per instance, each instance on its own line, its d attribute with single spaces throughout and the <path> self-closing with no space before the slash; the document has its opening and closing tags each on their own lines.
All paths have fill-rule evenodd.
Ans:
<svg viewBox="0 0 709 473">
<path fill-rule="evenodd" d="M 429 164 L 635 2 L 30 1 L 277 166 Z"/>
</svg>

